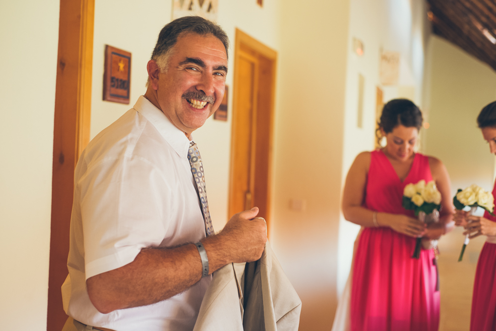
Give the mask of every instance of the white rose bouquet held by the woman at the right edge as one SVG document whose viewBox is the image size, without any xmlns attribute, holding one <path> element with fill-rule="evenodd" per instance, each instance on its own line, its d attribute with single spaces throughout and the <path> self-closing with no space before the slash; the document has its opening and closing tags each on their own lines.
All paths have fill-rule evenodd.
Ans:
<svg viewBox="0 0 496 331">
<path fill-rule="evenodd" d="M 477 186 L 476 184 L 472 184 L 464 190 L 461 188 L 458 189 L 456 195 L 453 197 L 453 205 L 458 210 L 462 210 L 465 207 L 470 207 L 470 215 L 474 215 L 477 207 L 481 207 L 491 214 L 491 216 L 495 216 L 493 214 L 495 208 L 494 200 L 495 198 L 493 197 L 493 193 L 485 191 L 482 187 Z M 463 253 L 465 253 L 465 248 L 467 247 L 469 241 L 469 235 L 467 234 L 465 236 L 465 241 L 463 242 L 458 262 L 462 261 Z"/>
</svg>

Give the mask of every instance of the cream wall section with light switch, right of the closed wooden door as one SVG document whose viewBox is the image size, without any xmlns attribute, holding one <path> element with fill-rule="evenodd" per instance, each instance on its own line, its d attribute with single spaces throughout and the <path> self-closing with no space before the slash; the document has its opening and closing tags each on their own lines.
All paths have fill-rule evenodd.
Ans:
<svg viewBox="0 0 496 331">
<path fill-rule="evenodd" d="M 330 330 L 337 238 L 348 0 L 281 3 L 272 244 L 303 301 L 300 330 Z M 290 199 L 307 203 L 289 209 Z"/>
</svg>

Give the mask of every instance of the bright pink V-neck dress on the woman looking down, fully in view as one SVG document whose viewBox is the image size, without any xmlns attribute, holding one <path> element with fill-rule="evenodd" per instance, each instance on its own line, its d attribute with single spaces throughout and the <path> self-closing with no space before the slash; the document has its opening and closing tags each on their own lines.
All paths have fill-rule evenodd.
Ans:
<svg viewBox="0 0 496 331">
<path fill-rule="evenodd" d="M 371 153 L 364 207 L 415 217 L 402 207 L 408 183 L 432 180 L 428 157 L 416 154 L 403 182 L 382 153 Z M 389 227 L 366 227 L 359 239 L 351 288 L 352 331 L 435 331 L 439 291 L 434 250 L 412 259 L 415 238 Z"/>
</svg>

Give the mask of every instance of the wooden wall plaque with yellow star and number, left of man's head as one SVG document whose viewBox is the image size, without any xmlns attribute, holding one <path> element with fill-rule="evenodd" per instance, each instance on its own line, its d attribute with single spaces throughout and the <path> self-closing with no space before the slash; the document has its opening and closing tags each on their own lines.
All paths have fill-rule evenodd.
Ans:
<svg viewBox="0 0 496 331">
<path fill-rule="evenodd" d="M 129 104 L 131 53 L 105 45 L 103 100 Z"/>
</svg>

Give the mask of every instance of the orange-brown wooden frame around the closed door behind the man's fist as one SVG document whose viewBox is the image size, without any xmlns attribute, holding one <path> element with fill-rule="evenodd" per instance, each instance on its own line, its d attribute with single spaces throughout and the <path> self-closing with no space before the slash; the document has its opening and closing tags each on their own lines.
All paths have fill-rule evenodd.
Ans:
<svg viewBox="0 0 496 331">
<path fill-rule="evenodd" d="M 233 197 L 233 184 L 234 184 L 234 148 L 235 148 L 235 136 L 236 136 L 236 121 L 237 121 L 237 109 L 238 104 L 238 92 L 237 86 L 239 84 L 239 70 L 238 70 L 238 56 L 242 52 L 242 45 L 254 50 L 256 53 L 263 55 L 269 59 L 272 63 L 271 76 L 273 77 L 271 82 L 271 92 L 270 92 L 270 103 L 269 103 L 269 141 L 268 141 L 268 178 L 267 178 L 267 210 L 266 210 L 266 221 L 267 230 L 269 230 L 269 216 L 271 212 L 271 192 L 272 192 L 272 147 L 273 147 L 273 128 L 274 128 L 274 105 L 275 105 L 275 86 L 276 86 L 276 68 L 277 68 L 277 52 L 271 48 L 263 45 L 256 39 L 250 37 L 247 33 L 236 28 L 235 36 L 235 50 L 234 50 L 234 81 L 233 81 L 233 112 L 232 112 L 232 123 L 231 123 L 231 157 L 230 157 L 230 176 L 229 176 L 229 203 L 228 203 L 228 214 L 230 213 L 231 200 Z M 257 98 L 258 99 L 258 98 Z M 229 215 L 231 217 L 232 215 Z"/>
</svg>

